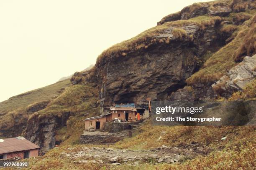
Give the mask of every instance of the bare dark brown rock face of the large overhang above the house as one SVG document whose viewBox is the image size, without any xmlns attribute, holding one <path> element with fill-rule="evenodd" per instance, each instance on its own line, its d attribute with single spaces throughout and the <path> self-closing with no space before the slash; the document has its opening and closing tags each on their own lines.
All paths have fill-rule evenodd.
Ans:
<svg viewBox="0 0 256 170">
<path fill-rule="evenodd" d="M 214 28 L 200 30 L 197 25 L 184 25 L 187 38 L 179 40 L 170 27 L 160 33 L 157 40 L 169 37 L 169 44 L 162 43 L 129 53 L 118 60 L 109 60 L 99 69 L 98 83 L 101 106 L 113 103 L 146 103 L 166 100 L 172 92 L 183 88 L 185 80 L 198 67 L 200 56 L 218 38 Z M 189 37 L 193 37 L 193 40 Z"/>
</svg>

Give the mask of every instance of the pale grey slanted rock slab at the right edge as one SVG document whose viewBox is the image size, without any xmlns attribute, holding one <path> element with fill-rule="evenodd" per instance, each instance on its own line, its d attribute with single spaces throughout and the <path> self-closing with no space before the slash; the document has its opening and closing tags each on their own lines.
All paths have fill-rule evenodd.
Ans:
<svg viewBox="0 0 256 170">
<path fill-rule="evenodd" d="M 227 75 L 212 85 L 224 96 L 230 96 L 233 92 L 242 90 L 248 82 L 256 77 L 256 55 L 244 57 L 243 61 L 230 69 Z"/>
</svg>

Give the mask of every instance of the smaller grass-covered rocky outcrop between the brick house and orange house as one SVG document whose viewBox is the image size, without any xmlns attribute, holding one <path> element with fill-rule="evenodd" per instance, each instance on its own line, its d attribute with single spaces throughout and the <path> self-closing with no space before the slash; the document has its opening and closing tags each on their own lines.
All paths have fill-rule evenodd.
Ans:
<svg viewBox="0 0 256 170">
<path fill-rule="evenodd" d="M 67 88 L 46 108 L 29 117 L 24 137 L 39 145 L 41 153 L 64 140 L 78 142 L 84 129 L 82 120 L 100 114 L 97 98 L 97 89 L 90 84 Z"/>
</svg>

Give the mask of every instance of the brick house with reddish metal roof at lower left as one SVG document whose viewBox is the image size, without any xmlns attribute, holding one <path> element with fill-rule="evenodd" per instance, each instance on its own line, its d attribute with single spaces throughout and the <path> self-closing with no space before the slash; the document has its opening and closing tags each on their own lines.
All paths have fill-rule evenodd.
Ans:
<svg viewBox="0 0 256 170">
<path fill-rule="evenodd" d="M 40 147 L 24 137 L 0 139 L 0 159 L 37 157 Z"/>
</svg>

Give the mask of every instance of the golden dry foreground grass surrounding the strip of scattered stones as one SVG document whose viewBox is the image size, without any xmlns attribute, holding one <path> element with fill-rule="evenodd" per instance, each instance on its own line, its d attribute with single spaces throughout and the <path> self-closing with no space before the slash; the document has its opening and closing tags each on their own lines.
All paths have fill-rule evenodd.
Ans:
<svg viewBox="0 0 256 170">
<path fill-rule="evenodd" d="M 218 133 L 216 133 L 218 132 Z M 161 140 L 157 140 L 162 136 Z M 228 136 L 226 140 L 220 140 L 223 136 Z M 204 170 L 204 169 L 253 169 L 255 166 L 255 127 L 252 126 L 152 126 L 150 123 L 143 125 L 142 132 L 133 138 L 120 141 L 115 145 L 61 145 L 59 148 L 50 150 L 46 155 L 39 158 L 31 158 L 26 161 L 30 163 L 27 169 L 43 170 L 51 169 L 148 169 L 148 170 Z M 110 166 L 108 164 L 75 163 L 74 161 L 88 158 L 66 158 L 61 153 L 78 152 L 83 147 L 105 147 L 120 149 L 150 149 L 161 145 L 183 147 L 191 143 L 200 143 L 213 148 L 212 153 L 199 156 L 192 160 L 184 160 L 182 163 L 175 164 L 145 164 L 138 166 L 127 164 L 120 166 Z M 67 148 L 72 147 L 73 150 Z M 223 150 L 220 148 L 224 148 Z M 228 168 L 227 168 L 228 165 Z"/>
</svg>

